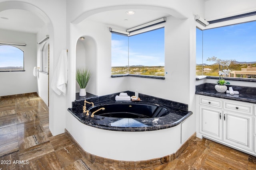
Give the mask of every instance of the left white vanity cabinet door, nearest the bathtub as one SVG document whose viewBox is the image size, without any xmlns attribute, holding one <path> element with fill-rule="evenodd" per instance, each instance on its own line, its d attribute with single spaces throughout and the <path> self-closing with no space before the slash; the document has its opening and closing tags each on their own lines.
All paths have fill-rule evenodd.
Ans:
<svg viewBox="0 0 256 170">
<path fill-rule="evenodd" d="M 222 111 L 200 106 L 200 133 L 222 140 Z"/>
</svg>

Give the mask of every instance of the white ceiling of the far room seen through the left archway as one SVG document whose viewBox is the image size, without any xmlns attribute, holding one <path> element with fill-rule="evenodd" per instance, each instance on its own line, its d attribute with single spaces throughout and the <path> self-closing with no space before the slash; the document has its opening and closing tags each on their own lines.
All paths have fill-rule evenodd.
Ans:
<svg viewBox="0 0 256 170">
<path fill-rule="evenodd" d="M 38 16 L 26 10 L 4 10 L 0 12 L 0 28 L 28 33 L 37 33 L 43 26 Z"/>
</svg>

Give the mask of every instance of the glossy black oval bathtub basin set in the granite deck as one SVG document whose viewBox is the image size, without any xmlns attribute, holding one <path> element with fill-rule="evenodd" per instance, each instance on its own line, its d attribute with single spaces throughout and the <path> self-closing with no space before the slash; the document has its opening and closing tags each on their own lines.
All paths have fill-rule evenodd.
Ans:
<svg viewBox="0 0 256 170">
<path fill-rule="evenodd" d="M 104 109 L 100 109 L 100 108 Z M 99 111 L 96 111 L 100 109 Z M 153 118 L 168 115 L 170 111 L 158 104 L 108 103 L 89 108 L 90 114 L 118 118 Z"/>
</svg>

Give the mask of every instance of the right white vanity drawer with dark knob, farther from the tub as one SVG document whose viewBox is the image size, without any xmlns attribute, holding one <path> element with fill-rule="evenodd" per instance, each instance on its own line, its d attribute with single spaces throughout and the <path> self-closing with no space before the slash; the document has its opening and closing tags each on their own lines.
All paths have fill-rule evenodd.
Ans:
<svg viewBox="0 0 256 170">
<path fill-rule="evenodd" d="M 246 102 L 235 102 L 232 100 L 224 101 L 224 109 L 242 114 L 253 114 L 253 104 L 248 104 Z"/>
</svg>

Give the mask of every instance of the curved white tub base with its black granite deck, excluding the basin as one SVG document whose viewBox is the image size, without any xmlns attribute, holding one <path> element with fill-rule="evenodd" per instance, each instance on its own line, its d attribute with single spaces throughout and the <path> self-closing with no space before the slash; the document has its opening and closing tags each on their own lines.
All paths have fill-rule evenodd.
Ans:
<svg viewBox="0 0 256 170">
<path fill-rule="evenodd" d="M 134 95 L 134 92 L 126 93 L 129 96 Z M 144 94 L 139 94 L 142 100 L 140 102 L 116 102 L 115 96 L 118 94 L 120 92 L 87 98 L 86 101 L 93 102 L 94 106 L 99 105 L 99 108 L 106 104 L 149 104 L 164 107 L 169 114 L 153 118 L 116 118 L 100 115 L 94 115 L 92 118 L 91 113 L 89 116 L 82 113 L 84 100 L 76 100 L 72 103 L 73 107 L 68 109 L 70 114 L 66 114 L 66 130 L 86 152 L 117 161 L 159 160 L 176 153 L 192 135 L 186 133 L 184 128 L 188 127 L 192 119 L 192 112 L 188 111 L 186 104 Z M 87 109 L 90 110 L 90 107 L 91 104 L 86 104 Z M 169 147 L 158 145 L 160 141 L 168 143 Z"/>
</svg>

